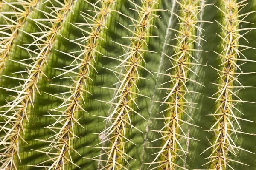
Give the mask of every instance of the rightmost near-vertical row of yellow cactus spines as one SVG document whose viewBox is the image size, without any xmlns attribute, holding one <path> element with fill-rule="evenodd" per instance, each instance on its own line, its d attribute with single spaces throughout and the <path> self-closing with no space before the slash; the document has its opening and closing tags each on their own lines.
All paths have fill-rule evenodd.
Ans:
<svg viewBox="0 0 256 170">
<path fill-rule="evenodd" d="M 231 159 L 230 154 L 237 156 L 236 152 L 238 150 L 250 152 L 242 149 L 240 146 L 236 146 L 232 137 L 233 135 L 237 137 L 237 133 L 249 134 L 242 132 L 239 125 L 239 120 L 249 120 L 240 118 L 236 113 L 241 113 L 241 111 L 236 108 L 236 105 L 239 102 L 247 102 L 241 100 L 239 96 L 237 96 L 239 90 L 246 88 L 246 86 L 243 86 L 241 82 L 239 82 L 238 76 L 240 74 L 251 74 L 243 73 L 240 68 L 245 62 L 250 62 L 241 51 L 251 47 L 239 45 L 239 39 L 245 39 L 244 35 L 252 29 L 239 29 L 239 24 L 246 22 L 244 19 L 250 13 L 255 12 L 252 11 L 245 14 L 239 14 L 241 9 L 246 6 L 246 3 L 244 4 L 246 1 L 247 0 L 236 2 L 236 0 L 222 0 L 221 6 L 216 6 L 224 15 L 222 22 L 217 21 L 222 29 L 221 34 L 218 34 L 222 39 L 221 52 L 215 52 L 220 57 L 221 65 L 219 66 L 221 66 L 221 68 L 214 68 L 218 72 L 220 81 L 218 83 L 213 83 L 214 85 L 217 85 L 218 91 L 212 95 L 216 97 L 210 98 L 215 99 L 217 109 L 215 113 L 209 115 L 214 116 L 215 122 L 208 131 L 212 131 L 215 138 L 211 143 L 211 147 L 206 149 L 212 150 L 210 156 L 207 157 L 209 161 L 206 164 L 209 164 L 210 169 L 215 170 L 226 170 L 228 167 L 233 169 L 233 167 L 230 166 L 230 162 L 232 161 L 243 164 Z M 244 31 L 245 33 L 239 34 L 240 31 Z M 238 65 L 237 61 L 240 61 L 241 64 Z"/>
</svg>

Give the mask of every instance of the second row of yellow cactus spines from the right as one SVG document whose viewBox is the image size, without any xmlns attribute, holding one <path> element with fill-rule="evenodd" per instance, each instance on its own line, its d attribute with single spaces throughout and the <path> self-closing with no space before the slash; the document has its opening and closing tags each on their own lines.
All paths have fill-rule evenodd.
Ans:
<svg viewBox="0 0 256 170">
<path fill-rule="evenodd" d="M 167 80 L 161 84 L 160 90 L 164 90 L 166 96 L 163 101 L 154 101 L 166 105 L 166 108 L 158 114 L 160 117 L 153 117 L 151 119 L 163 120 L 163 128 L 160 130 L 150 130 L 156 133 L 160 133 L 161 137 L 151 142 L 161 143 L 157 144 L 160 151 L 155 153 L 156 157 L 154 161 L 149 164 L 149 167 L 153 164 L 158 164 L 152 169 L 161 170 L 174 170 L 176 168 L 186 169 L 177 164 L 177 159 L 182 159 L 182 155 L 186 155 L 187 152 L 183 149 L 180 139 L 192 139 L 187 136 L 183 130 L 183 125 L 193 125 L 189 123 L 189 119 L 185 119 L 186 115 L 189 116 L 189 110 L 193 109 L 192 105 L 195 103 L 189 102 L 187 99 L 188 94 L 197 93 L 191 91 L 187 84 L 188 82 L 196 82 L 190 78 L 190 73 L 194 73 L 193 67 L 200 65 L 195 59 L 195 52 L 202 52 L 201 50 L 195 49 L 195 43 L 198 40 L 204 40 L 198 37 L 196 32 L 200 31 L 197 23 L 205 22 L 198 20 L 198 14 L 204 5 L 200 5 L 201 0 L 183 0 L 176 1 L 179 4 L 180 9 L 177 11 L 179 14 L 174 14 L 177 17 L 178 29 L 168 28 L 171 31 L 175 31 L 176 45 L 166 44 L 174 49 L 172 55 L 164 54 L 170 60 L 170 68 L 166 71 L 167 73 L 158 73 Z M 163 87 L 164 86 L 164 87 Z M 196 125 L 194 125 L 196 126 Z M 193 139 L 195 140 L 195 139 Z"/>
</svg>

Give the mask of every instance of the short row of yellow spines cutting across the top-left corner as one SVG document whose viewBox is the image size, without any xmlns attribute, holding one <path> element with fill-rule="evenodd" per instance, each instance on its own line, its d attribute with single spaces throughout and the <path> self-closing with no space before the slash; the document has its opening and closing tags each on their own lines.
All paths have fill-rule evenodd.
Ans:
<svg viewBox="0 0 256 170">
<path fill-rule="evenodd" d="M 0 7 L 8 5 L 12 11 L 1 11 L 0 16 L 6 21 L 6 24 L 0 25 L 0 33 L 3 37 L 0 38 L 0 72 L 4 67 L 5 59 L 10 54 L 13 41 L 19 34 L 19 29 L 26 22 L 27 17 L 33 11 L 33 8 L 38 4 L 38 0 L 15 0 L 14 2 L 1 1 Z M 22 8 L 19 8 L 20 5 Z M 13 15 L 14 18 L 9 18 L 6 15 Z"/>
</svg>

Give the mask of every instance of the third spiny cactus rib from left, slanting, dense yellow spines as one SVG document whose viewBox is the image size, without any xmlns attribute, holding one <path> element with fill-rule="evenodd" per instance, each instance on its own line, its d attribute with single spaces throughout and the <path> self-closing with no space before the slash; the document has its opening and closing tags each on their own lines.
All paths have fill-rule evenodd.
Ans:
<svg viewBox="0 0 256 170">
<path fill-rule="evenodd" d="M 84 0 L 86 3 L 90 4 L 94 7 L 95 16 L 90 16 L 89 14 L 83 13 L 81 14 L 85 20 L 85 23 L 71 23 L 76 28 L 79 28 L 84 34 L 87 34 L 87 36 L 84 36 L 82 38 L 79 38 L 77 40 L 80 40 L 80 42 L 76 42 L 77 40 L 70 40 L 77 45 L 79 45 L 81 48 L 83 48 L 82 51 L 76 51 L 73 53 L 79 53 L 78 57 L 73 56 L 72 54 L 67 54 L 62 52 L 64 54 L 69 55 L 70 57 L 74 58 L 74 62 L 66 67 L 66 68 L 59 68 L 59 70 L 64 71 L 62 74 L 58 75 L 57 77 L 60 77 L 65 74 L 73 74 L 74 76 L 68 76 L 64 78 L 71 78 L 71 81 L 73 82 L 72 85 L 55 85 L 55 86 L 61 86 L 65 88 L 69 88 L 70 91 L 61 93 L 61 94 L 49 94 L 52 95 L 58 99 L 62 99 L 63 103 L 59 105 L 57 108 L 54 108 L 50 111 L 50 113 L 60 113 L 60 114 L 49 114 L 47 116 L 51 116 L 53 119 L 56 120 L 53 124 L 47 126 L 46 128 L 51 129 L 56 134 L 52 136 L 50 139 L 47 140 L 41 140 L 44 142 L 49 142 L 49 147 L 44 148 L 47 149 L 47 151 L 39 151 L 46 153 L 48 156 L 51 156 L 51 158 L 48 161 L 53 161 L 50 167 L 44 166 L 44 162 L 42 162 L 37 167 L 46 167 L 48 169 L 64 169 L 66 164 L 73 164 L 70 151 L 73 150 L 76 152 L 76 150 L 72 147 L 71 140 L 73 138 L 76 138 L 77 136 L 74 134 L 74 126 L 81 124 L 78 122 L 78 119 L 76 118 L 76 113 L 79 110 L 84 111 L 87 113 L 87 111 L 84 110 L 82 107 L 83 104 L 85 104 L 84 100 L 84 93 L 91 94 L 89 91 L 86 90 L 87 88 L 87 81 L 92 80 L 90 78 L 90 70 L 95 69 L 93 66 L 93 60 L 96 57 L 96 53 L 99 53 L 96 48 L 99 43 L 99 39 L 102 39 L 101 33 L 102 30 L 106 27 L 105 23 L 107 20 L 107 17 L 109 16 L 111 12 L 111 8 L 113 8 L 116 0 L 99 0 L 97 3 L 100 3 L 101 7 L 98 7 L 99 4 L 92 4 L 88 2 L 87 0 Z M 90 31 L 84 30 L 80 28 L 80 26 L 88 26 L 90 28 Z M 84 42 L 81 43 L 81 42 Z M 68 69 L 67 69 L 68 68 Z M 68 96 L 67 98 L 64 97 Z M 68 95 L 67 95 L 68 94 Z M 81 103 L 80 103 L 81 102 Z M 56 125 L 60 125 L 60 127 L 56 127 Z M 81 126 L 82 127 L 82 126 Z M 56 152 L 55 152 L 56 151 Z M 77 152 L 76 152 L 77 153 Z M 78 153 L 79 154 L 79 153 Z"/>
</svg>

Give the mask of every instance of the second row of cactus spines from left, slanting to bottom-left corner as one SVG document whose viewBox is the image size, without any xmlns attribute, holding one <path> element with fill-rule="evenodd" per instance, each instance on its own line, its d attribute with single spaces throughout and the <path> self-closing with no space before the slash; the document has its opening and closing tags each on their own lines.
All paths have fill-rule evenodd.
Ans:
<svg viewBox="0 0 256 170">
<path fill-rule="evenodd" d="M 51 44 L 54 42 L 54 37 L 56 36 L 56 34 L 58 34 L 58 30 L 61 28 L 61 22 L 63 21 L 66 13 L 70 11 L 70 8 L 67 8 L 67 6 L 71 4 L 72 3 L 65 4 L 63 8 L 57 8 L 57 10 L 55 10 L 55 12 L 59 14 L 58 17 L 60 17 L 61 20 L 58 20 L 58 21 L 54 20 L 54 24 L 56 24 L 56 25 L 53 24 L 54 31 L 52 34 L 49 34 L 49 37 L 46 37 L 47 40 L 42 40 L 42 38 L 38 39 L 38 40 L 44 41 L 46 43 L 44 47 L 47 47 L 47 48 L 40 48 L 40 46 L 37 46 L 41 51 L 36 52 L 36 51 L 30 50 L 29 48 L 20 46 L 20 48 L 26 49 L 29 53 L 37 55 L 37 57 L 35 58 L 31 57 L 29 59 L 33 61 L 32 64 L 28 65 L 22 61 L 11 60 L 18 64 L 25 65 L 28 68 L 28 70 L 17 72 L 17 73 L 25 73 L 25 74 L 27 73 L 28 76 L 27 78 L 5 76 L 12 79 L 24 81 L 24 83 L 20 84 L 20 86 L 18 87 L 11 88 L 11 89 L 3 88 L 7 91 L 13 91 L 17 93 L 17 96 L 15 97 L 15 99 L 13 99 L 11 102 L 7 103 L 2 107 L 2 108 L 8 108 L 8 110 L 4 111 L 4 113 L 2 114 L 2 116 L 4 116 L 7 119 L 6 121 L 2 122 L 4 123 L 4 125 L 1 126 L 1 131 L 3 130 L 6 133 L 5 136 L 1 137 L 1 143 L 0 143 L 0 145 L 4 146 L 3 149 L 1 150 L 2 151 L 1 154 L 5 156 L 4 157 L 5 159 L 3 160 L 3 164 L 1 165 L 1 167 L 3 168 L 10 168 L 10 169 L 15 168 L 15 170 L 17 170 L 17 167 L 15 166 L 15 163 L 14 163 L 15 154 L 17 154 L 19 160 L 21 161 L 19 156 L 19 141 L 22 140 L 23 142 L 26 143 L 26 141 L 22 137 L 22 133 L 24 133 L 23 121 L 24 119 L 28 120 L 28 113 L 29 113 L 28 106 L 30 103 L 33 106 L 33 102 L 35 100 L 35 93 L 37 93 L 37 91 L 39 92 L 39 89 L 37 86 L 38 80 L 40 77 L 45 76 L 42 70 L 43 70 L 43 66 L 46 64 L 47 54 L 50 51 Z M 54 7 L 52 9 L 54 9 Z M 54 16 L 54 15 L 51 14 L 51 16 Z M 36 19 L 32 19 L 32 20 L 38 23 Z M 51 18 L 49 18 L 49 21 L 52 21 Z M 38 24 L 43 25 L 42 23 L 38 23 Z M 57 26 L 58 24 L 59 26 Z M 23 30 L 20 30 L 20 31 L 23 31 Z M 35 37 L 34 35 L 32 36 Z M 35 41 L 31 45 L 35 45 L 36 43 L 37 42 Z M 11 113 L 14 113 L 14 114 L 11 114 Z M 12 116 L 10 116 L 10 114 Z M 8 159 L 6 159 L 6 157 Z"/>
</svg>

